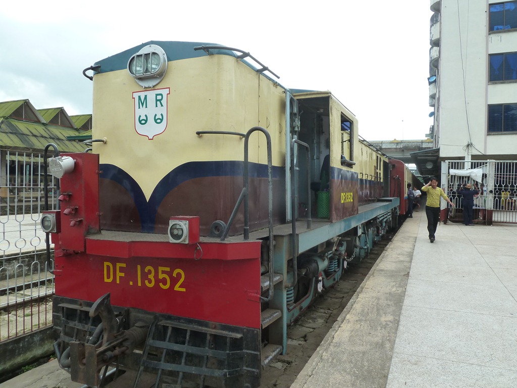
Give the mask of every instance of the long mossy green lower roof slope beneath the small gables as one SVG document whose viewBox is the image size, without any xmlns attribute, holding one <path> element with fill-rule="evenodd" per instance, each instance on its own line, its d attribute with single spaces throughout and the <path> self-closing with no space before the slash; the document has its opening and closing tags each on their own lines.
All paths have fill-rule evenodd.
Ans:
<svg viewBox="0 0 517 388">
<path fill-rule="evenodd" d="M 42 152 L 54 143 L 59 152 L 84 152 L 82 143 L 70 141 L 68 136 L 82 135 L 82 131 L 52 124 L 43 125 L 14 118 L 0 118 L 0 147 Z"/>
</svg>

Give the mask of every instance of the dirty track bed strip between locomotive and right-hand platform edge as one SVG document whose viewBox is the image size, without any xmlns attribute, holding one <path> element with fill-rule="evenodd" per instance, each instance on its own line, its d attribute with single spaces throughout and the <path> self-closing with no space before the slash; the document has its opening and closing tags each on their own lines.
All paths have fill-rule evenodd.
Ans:
<svg viewBox="0 0 517 388">
<path fill-rule="evenodd" d="M 262 373 L 260 388 L 288 388 L 320 346 L 330 328 L 352 299 L 395 232 L 384 236 L 369 256 L 346 268 L 341 280 L 314 301 L 287 329 L 287 353 L 277 357 Z"/>
</svg>

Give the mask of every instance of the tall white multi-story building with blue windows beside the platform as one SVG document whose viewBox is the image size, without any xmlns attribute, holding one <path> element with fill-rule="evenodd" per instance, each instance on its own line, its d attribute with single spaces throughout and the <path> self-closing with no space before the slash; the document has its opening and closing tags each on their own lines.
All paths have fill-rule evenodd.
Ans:
<svg viewBox="0 0 517 388">
<path fill-rule="evenodd" d="M 517 160 L 517 1 L 431 0 L 429 106 L 434 151 L 415 155 L 422 175 L 443 160 Z"/>
</svg>

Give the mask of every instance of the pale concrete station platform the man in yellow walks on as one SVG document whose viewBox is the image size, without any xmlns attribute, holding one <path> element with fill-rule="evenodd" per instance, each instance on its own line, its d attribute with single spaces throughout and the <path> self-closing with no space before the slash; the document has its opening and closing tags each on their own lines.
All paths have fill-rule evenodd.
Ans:
<svg viewBox="0 0 517 388">
<path fill-rule="evenodd" d="M 517 225 L 413 216 L 291 388 L 517 386 Z"/>
</svg>

